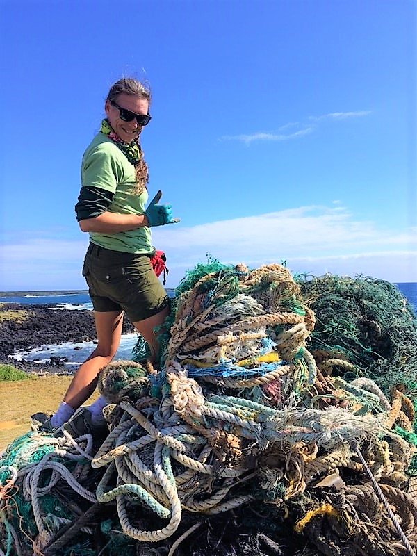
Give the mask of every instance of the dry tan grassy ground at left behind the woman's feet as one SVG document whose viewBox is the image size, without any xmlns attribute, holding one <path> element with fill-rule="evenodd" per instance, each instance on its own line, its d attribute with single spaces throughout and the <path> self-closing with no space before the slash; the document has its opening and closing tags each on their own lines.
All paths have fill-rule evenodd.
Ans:
<svg viewBox="0 0 417 556">
<path fill-rule="evenodd" d="M 0 382 L 0 452 L 17 436 L 31 430 L 31 415 L 36 411 L 56 411 L 71 379 L 71 376 L 47 375 Z M 98 395 L 96 391 L 86 405 Z"/>
</svg>

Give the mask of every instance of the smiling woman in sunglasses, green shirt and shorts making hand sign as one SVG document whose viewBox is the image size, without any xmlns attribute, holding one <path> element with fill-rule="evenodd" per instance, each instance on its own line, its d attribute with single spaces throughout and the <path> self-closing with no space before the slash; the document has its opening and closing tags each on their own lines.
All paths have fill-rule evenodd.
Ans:
<svg viewBox="0 0 417 556">
<path fill-rule="evenodd" d="M 158 204 L 158 191 L 148 200 L 147 164 L 140 147 L 140 133 L 151 120 L 151 94 L 136 79 L 120 79 L 108 92 L 106 119 L 88 145 L 81 164 L 81 192 L 75 206 L 82 231 L 90 234 L 83 276 L 94 308 L 97 347 L 74 375 L 56 414 L 33 418 L 42 430 L 66 423 L 73 435 L 92 432 L 104 425 L 100 397 L 71 417 L 93 393 L 99 371 L 115 356 L 122 334 L 124 312 L 147 341 L 150 360 L 157 363 L 158 340 L 154 327 L 163 323 L 170 302 L 150 262 L 152 226 L 178 222 L 171 206 Z M 67 421 L 69 421 L 67 423 Z"/>
</svg>

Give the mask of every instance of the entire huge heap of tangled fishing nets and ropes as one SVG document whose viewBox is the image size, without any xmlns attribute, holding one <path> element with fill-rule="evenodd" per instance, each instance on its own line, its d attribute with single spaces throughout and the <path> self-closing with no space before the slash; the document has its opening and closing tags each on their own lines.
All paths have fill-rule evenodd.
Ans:
<svg viewBox="0 0 417 556">
<path fill-rule="evenodd" d="M 0 460 L 0 555 L 413 555 L 417 325 L 394 286 L 197 265 L 108 436 Z M 139 350 L 140 351 L 140 350 Z"/>
</svg>

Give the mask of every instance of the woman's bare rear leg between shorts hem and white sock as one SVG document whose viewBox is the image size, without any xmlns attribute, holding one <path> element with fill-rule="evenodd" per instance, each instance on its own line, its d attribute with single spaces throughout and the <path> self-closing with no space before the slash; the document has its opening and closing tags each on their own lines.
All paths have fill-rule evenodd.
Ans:
<svg viewBox="0 0 417 556">
<path fill-rule="evenodd" d="M 95 391 L 101 368 L 111 362 L 122 335 L 123 311 L 101 313 L 95 311 L 97 347 L 76 371 L 63 401 L 78 409 Z"/>
</svg>

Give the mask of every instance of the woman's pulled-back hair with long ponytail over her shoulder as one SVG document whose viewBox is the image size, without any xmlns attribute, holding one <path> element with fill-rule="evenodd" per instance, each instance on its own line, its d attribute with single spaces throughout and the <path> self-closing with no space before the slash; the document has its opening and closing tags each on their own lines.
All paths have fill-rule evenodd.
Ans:
<svg viewBox="0 0 417 556">
<path fill-rule="evenodd" d="M 108 95 L 106 100 L 109 102 L 117 101 L 117 97 L 124 93 L 125 95 L 134 95 L 139 97 L 140 99 L 145 99 L 151 103 L 151 89 L 148 83 L 141 83 L 137 79 L 133 79 L 133 77 L 122 77 L 113 85 L 111 85 L 110 90 L 108 91 Z M 142 147 L 140 146 L 139 138 L 138 138 L 138 147 L 139 147 L 139 162 L 135 165 L 135 176 L 136 176 L 136 187 L 133 190 L 133 193 L 142 193 L 142 191 L 146 188 L 146 184 L 149 181 L 149 172 L 147 163 L 143 158 L 143 151 Z"/>
</svg>

